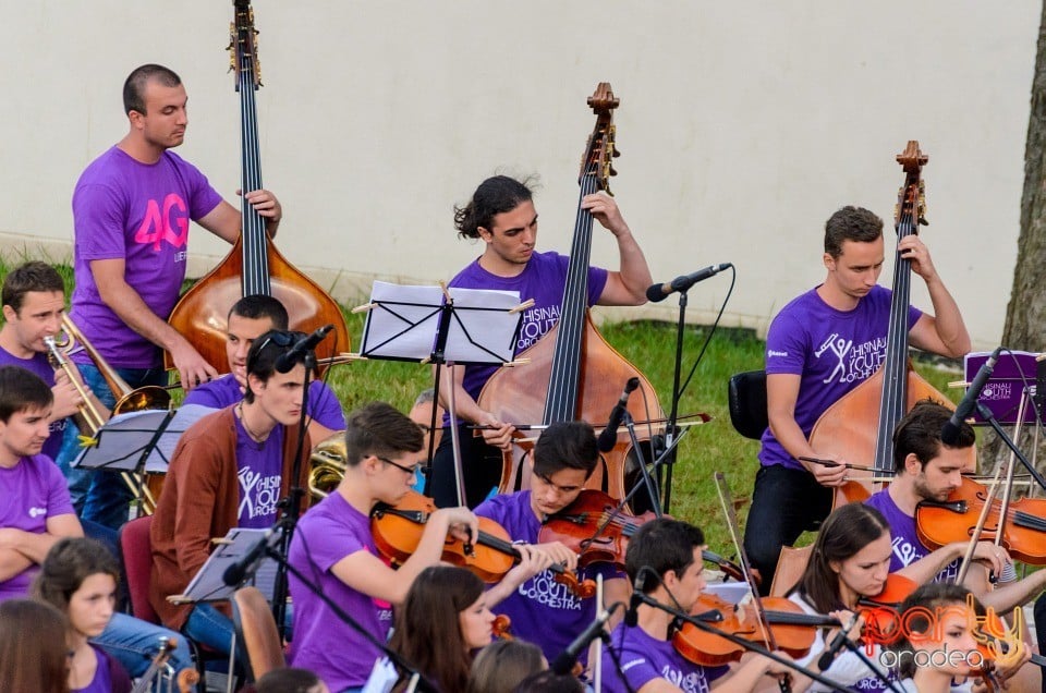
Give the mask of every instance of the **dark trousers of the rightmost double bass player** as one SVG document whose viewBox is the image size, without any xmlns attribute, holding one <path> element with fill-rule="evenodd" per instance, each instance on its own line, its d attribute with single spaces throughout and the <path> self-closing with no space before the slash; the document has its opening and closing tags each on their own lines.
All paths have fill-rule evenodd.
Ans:
<svg viewBox="0 0 1046 693">
<path fill-rule="evenodd" d="M 816 528 L 831 512 L 831 489 L 805 470 L 780 464 L 759 469 L 744 525 L 744 551 L 759 571 L 759 592 L 770 591 L 781 547 L 792 546 L 800 534 Z"/>
</svg>

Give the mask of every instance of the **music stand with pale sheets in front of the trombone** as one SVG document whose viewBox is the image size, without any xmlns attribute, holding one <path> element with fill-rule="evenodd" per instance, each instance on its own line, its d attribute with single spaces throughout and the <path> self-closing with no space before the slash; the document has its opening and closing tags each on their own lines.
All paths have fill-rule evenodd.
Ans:
<svg viewBox="0 0 1046 693">
<path fill-rule="evenodd" d="M 107 421 L 92 438 L 85 439 L 72 466 L 84 470 L 120 472 L 124 483 L 139 501 L 149 495 L 145 474 L 166 474 L 182 434 L 194 423 L 218 410 L 187 404 L 178 410 L 143 410 L 118 414 Z"/>
</svg>

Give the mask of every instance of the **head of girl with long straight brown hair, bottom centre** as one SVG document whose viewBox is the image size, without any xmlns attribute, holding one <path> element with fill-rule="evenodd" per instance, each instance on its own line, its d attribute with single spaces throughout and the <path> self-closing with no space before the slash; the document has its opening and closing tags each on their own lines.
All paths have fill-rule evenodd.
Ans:
<svg viewBox="0 0 1046 693">
<path fill-rule="evenodd" d="M 490 643 L 494 613 L 483 582 L 463 568 L 431 566 L 411 584 L 389 646 L 443 693 L 464 691 L 472 652 Z"/>
</svg>

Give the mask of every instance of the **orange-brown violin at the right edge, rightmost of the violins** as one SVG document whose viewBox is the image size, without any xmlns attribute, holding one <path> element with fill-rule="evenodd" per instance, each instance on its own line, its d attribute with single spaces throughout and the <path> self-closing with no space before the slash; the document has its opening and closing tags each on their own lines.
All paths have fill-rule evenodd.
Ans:
<svg viewBox="0 0 1046 693">
<path fill-rule="evenodd" d="M 1002 501 L 992 499 L 981 538 L 995 542 L 1010 556 L 1030 566 L 1046 566 L 1046 499 L 1022 498 L 1010 501 L 1000 516 Z M 970 540 L 977 519 L 988 503 L 983 484 L 965 476 L 948 500 L 923 500 L 915 507 L 915 530 L 927 548 L 937 549 L 952 542 Z M 1002 535 L 998 536 L 1001 527 Z"/>
</svg>

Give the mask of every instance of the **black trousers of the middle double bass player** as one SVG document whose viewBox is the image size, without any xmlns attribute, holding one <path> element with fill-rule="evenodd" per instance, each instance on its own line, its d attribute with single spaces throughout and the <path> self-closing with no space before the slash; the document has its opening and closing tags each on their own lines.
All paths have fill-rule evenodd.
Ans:
<svg viewBox="0 0 1046 693">
<path fill-rule="evenodd" d="M 465 479 L 465 503 L 475 508 L 501 482 L 501 451 L 488 446 L 475 431 L 459 426 L 461 442 L 461 470 Z M 438 508 L 458 504 L 458 482 L 454 478 L 454 452 L 450 430 L 443 430 L 439 446 L 433 455 L 433 470 L 426 491 Z"/>
</svg>

